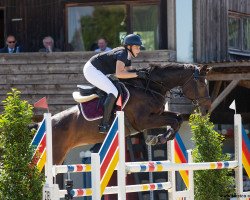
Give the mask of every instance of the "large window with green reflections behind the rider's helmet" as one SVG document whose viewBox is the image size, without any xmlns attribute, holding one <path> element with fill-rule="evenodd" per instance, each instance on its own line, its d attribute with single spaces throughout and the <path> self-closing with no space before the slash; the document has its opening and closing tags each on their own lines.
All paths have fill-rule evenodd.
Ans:
<svg viewBox="0 0 250 200">
<path fill-rule="evenodd" d="M 146 50 L 159 48 L 158 4 L 67 6 L 67 39 L 74 51 L 93 51 L 105 37 L 111 48 L 127 33 L 137 33 Z"/>
</svg>

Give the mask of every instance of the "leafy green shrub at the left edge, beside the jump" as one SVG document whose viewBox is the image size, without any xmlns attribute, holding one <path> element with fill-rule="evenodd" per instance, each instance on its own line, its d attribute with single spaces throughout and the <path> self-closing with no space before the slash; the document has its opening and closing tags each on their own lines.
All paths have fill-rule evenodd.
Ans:
<svg viewBox="0 0 250 200">
<path fill-rule="evenodd" d="M 7 94 L 3 105 L 4 111 L 0 115 L 0 199 L 40 200 L 44 175 L 30 164 L 34 131 L 30 131 L 28 125 L 32 122 L 33 108 L 20 99 L 16 89 Z"/>
</svg>

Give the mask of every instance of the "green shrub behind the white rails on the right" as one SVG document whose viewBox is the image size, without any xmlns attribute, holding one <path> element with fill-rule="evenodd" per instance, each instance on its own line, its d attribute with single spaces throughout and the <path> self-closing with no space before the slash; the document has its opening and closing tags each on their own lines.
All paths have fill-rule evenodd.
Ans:
<svg viewBox="0 0 250 200">
<path fill-rule="evenodd" d="M 192 140 L 195 143 L 194 162 L 228 161 L 229 156 L 222 152 L 224 137 L 214 130 L 214 125 L 209 120 L 209 115 L 202 116 L 200 113 L 190 116 Z M 195 199 L 228 199 L 233 194 L 234 178 L 230 176 L 231 172 L 228 169 L 195 171 Z"/>
</svg>

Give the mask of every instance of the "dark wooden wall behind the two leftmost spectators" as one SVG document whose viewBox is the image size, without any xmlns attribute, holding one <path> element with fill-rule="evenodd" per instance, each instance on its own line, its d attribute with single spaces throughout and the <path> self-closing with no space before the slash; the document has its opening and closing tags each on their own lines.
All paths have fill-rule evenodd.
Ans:
<svg viewBox="0 0 250 200">
<path fill-rule="evenodd" d="M 26 51 L 38 51 L 47 35 L 55 39 L 57 47 L 64 48 L 65 16 L 61 0 L 1 0 L 0 7 L 5 10 L 5 36 L 15 35 Z"/>
</svg>

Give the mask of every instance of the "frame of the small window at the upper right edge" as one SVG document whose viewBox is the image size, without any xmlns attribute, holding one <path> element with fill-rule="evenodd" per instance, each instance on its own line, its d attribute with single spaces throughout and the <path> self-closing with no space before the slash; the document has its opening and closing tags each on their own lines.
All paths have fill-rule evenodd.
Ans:
<svg viewBox="0 0 250 200">
<path fill-rule="evenodd" d="M 239 48 L 233 48 L 229 46 L 229 19 L 234 18 L 234 19 L 239 19 L 240 20 L 240 30 L 239 30 Z M 237 13 L 237 12 L 232 12 L 229 11 L 228 13 L 228 52 L 229 54 L 234 54 L 234 55 L 241 55 L 241 56 L 250 56 L 250 49 L 245 50 L 243 43 L 244 43 L 244 27 L 243 27 L 243 20 L 244 19 L 250 19 L 249 14 L 243 14 L 243 13 Z M 250 36 L 249 36 L 250 40 Z"/>
</svg>

